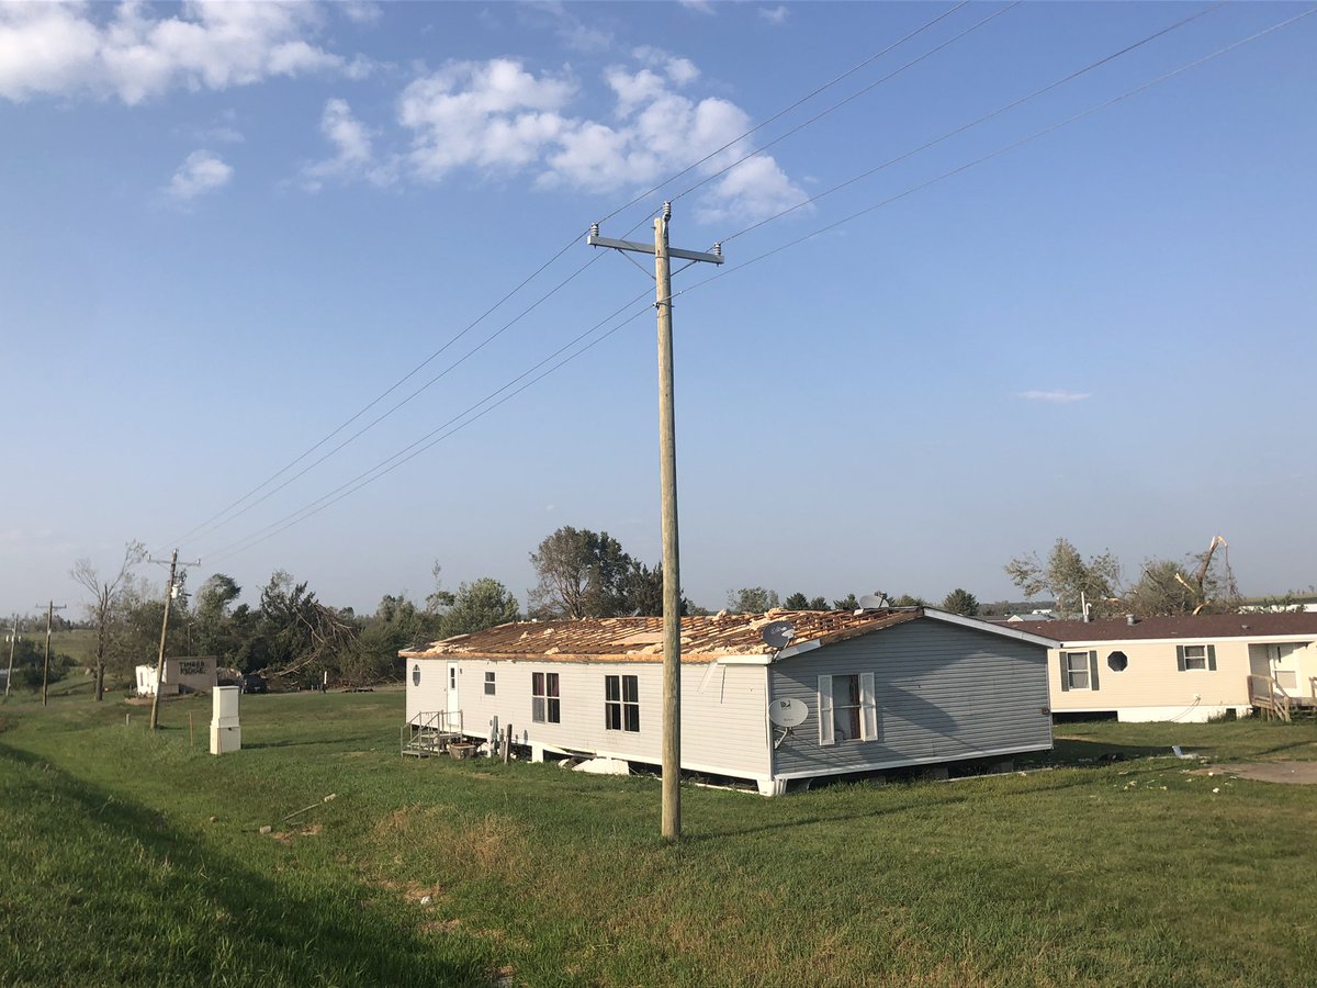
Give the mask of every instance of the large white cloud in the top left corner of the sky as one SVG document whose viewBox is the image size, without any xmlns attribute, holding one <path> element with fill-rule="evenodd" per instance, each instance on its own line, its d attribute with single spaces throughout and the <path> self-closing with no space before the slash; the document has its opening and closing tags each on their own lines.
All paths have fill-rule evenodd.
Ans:
<svg viewBox="0 0 1317 988">
<path fill-rule="evenodd" d="M 0 4 L 0 96 L 117 96 L 133 105 L 167 90 L 225 90 L 274 75 L 361 75 L 308 41 L 320 8 L 300 3 L 192 0 L 157 16 L 137 0 L 113 8 Z"/>
</svg>

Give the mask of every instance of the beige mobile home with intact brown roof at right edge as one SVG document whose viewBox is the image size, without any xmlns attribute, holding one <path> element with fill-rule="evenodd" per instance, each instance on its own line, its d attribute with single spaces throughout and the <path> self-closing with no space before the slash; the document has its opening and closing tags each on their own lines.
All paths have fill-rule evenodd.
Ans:
<svg viewBox="0 0 1317 988">
<path fill-rule="evenodd" d="M 1031 626 L 1054 639 L 1058 714 L 1208 721 L 1317 703 L 1317 614 L 1202 614 Z"/>
</svg>

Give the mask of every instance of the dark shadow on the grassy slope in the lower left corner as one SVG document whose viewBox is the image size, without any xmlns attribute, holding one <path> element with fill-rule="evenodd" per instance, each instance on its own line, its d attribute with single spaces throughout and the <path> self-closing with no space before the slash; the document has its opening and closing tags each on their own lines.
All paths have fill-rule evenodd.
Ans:
<svg viewBox="0 0 1317 988">
<path fill-rule="evenodd" d="M 109 897 L 115 916 L 115 951 L 103 951 L 104 959 L 91 945 L 63 952 L 47 947 L 28 954 L 33 970 L 11 971 L 18 980 L 489 984 L 487 974 L 474 964 L 436 958 L 432 945 L 387 914 L 363 916 L 363 891 L 345 889 L 346 880 L 327 881 L 323 894 L 306 894 L 288 883 L 238 867 L 223 854 L 208 852 L 170 827 L 161 813 L 122 793 L 78 780 L 46 759 L 0 744 L 3 760 L 24 767 L 26 772 L 20 772 L 29 780 L 32 769 L 40 772 L 40 802 L 57 808 L 46 811 L 58 813 L 61 833 L 68 842 L 86 843 L 90 838 L 100 848 L 99 860 L 90 868 L 86 858 L 71 858 L 57 867 L 72 880 L 99 884 L 99 894 Z M 36 788 L 32 782 L 28 786 Z M 121 852 L 137 844 L 149 859 L 138 863 L 115 858 L 116 848 Z M 65 854 L 66 847 L 53 843 L 54 856 Z M 153 876 L 153 871 L 163 877 Z M 200 893 L 199 881 L 204 883 Z M 144 889 L 149 893 L 145 902 Z M 240 926 L 229 930 L 228 942 L 200 918 L 216 910 L 238 918 Z M 57 931 L 47 933 L 46 939 L 61 939 Z M 149 942 L 150 956 L 130 954 L 128 945 L 134 941 Z M 138 970 L 125 970 L 125 954 L 140 964 Z M 104 967 L 88 970 L 90 963 Z"/>
</svg>

